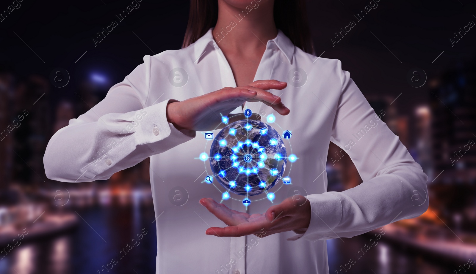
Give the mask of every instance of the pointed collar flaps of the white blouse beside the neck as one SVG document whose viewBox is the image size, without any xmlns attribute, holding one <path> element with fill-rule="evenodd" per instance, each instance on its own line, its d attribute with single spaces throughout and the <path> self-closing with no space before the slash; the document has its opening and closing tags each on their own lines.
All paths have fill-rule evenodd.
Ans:
<svg viewBox="0 0 476 274">
<path fill-rule="evenodd" d="M 202 37 L 198 38 L 198 40 L 195 41 L 195 63 L 200 62 L 200 57 L 205 54 L 208 46 L 218 48 L 217 43 L 213 39 L 212 29 L 213 28 L 210 28 L 207 33 L 205 33 Z M 268 49 L 278 47 L 279 50 L 284 53 L 289 63 L 292 63 L 295 46 L 280 29 L 278 29 L 278 35 L 274 39 L 269 40 L 266 47 Z"/>
</svg>

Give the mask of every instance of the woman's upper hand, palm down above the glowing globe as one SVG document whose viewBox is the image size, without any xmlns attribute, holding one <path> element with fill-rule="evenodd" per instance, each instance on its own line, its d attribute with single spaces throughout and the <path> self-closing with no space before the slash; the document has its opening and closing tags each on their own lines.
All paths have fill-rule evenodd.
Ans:
<svg viewBox="0 0 476 274">
<path fill-rule="evenodd" d="M 214 130 L 227 116 L 245 101 L 263 102 L 273 107 L 279 114 L 288 115 L 289 109 L 281 103 L 281 98 L 268 92 L 269 89 L 284 89 L 288 84 L 277 80 L 259 80 L 246 86 L 224 87 L 198 97 L 184 101 L 175 101 L 167 105 L 167 120 L 178 130 L 193 131 Z M 260 120 L 253 113 L 251 119 Z M 246 119 L 243 113 L 228 117 L 228 123 Z"/>
</svg>

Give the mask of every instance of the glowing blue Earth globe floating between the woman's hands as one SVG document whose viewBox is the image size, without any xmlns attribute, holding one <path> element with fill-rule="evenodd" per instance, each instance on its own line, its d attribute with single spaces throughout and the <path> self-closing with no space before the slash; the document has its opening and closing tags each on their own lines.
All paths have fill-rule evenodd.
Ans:
<svg viewBox="0 0 476 274">
<path fill-rule="evenodd" d="M 229 192 L 258 195 L 275 186 L 286 168 L 286 147 L 278 132 L 257 120 L 230 123 L 215 136 L 210 166 Z"/>
</svg>

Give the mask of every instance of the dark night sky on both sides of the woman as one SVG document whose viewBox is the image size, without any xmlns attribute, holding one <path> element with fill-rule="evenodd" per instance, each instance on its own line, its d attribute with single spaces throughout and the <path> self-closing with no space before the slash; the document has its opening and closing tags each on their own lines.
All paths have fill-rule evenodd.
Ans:
<svg viewBox="0 0 476 274">
<path fill-rule="evenodd" d="M 144 55 L 180 48 L 187 0 L 143 0 L 95 47 L 96 33 L 132 2 L 103 1 L 23 0 L 0 22 L 0 64 L 10 64 L 20 76 L 48 77 L 53 68 L 63 67 L 71 76 L 70 85 L 53 88 L 52 95 L 69 97 L 92 72 L 108 78 L 108 90 L 141 64 Z M 0 12 L 12 2 L 2 1 Z M 470 28 L 454 47 L 449 40 L 458 28 L 476 22 L 476 4 L 469 0 L 380 0 L 360 21 L 354 15 L 370 0 L 307 2 L 316 54 L 340 59 L 366 96 L 395 98 L 402 93 L 396 101 L 401 113 L 410 113 L 429 96 L 428 83 L 421 88 L 407 83 L 409 69 L 422 68 L 433 78 L 474 58 L 476 29 Z M 335 32 L 350 20 L 356 26 L 333 47 Z"/>
</svg>

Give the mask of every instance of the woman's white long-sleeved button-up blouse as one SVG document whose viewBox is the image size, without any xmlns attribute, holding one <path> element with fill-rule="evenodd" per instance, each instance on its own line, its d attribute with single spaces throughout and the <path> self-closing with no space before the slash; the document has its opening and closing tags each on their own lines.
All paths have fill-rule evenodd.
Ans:
<svg viewBox="0 0 476 274">
<path fill-rule="evenodd" d="M 170 99 L 182 101 L 236 86 L 211 29 L 189 47 L 144 56 L 144 63 L 112 86 L 104 100 L 56 132 L 44 156 L 48 178 L 105 180 L 150 157 L 158 274 L 325 274 L 327 239 L 356 236 L 425 212 L 425 194 L 420 199 L 415 195 L 427 193 L 426 174 L 379 119 L 349 72 L 341 69 L 341 62 L 303 52 L 280 30 L 266 46 L 254 80 L 288 82 L 284 90 L 271 92 L 281 96 L 291 113 L 281 116 L 260 102 L 246 102 L 245 109 L 264 117 L 274 113 L 273 127 L 292 132 L 286 146 L 288 154 L 292 146 L 298 159 L 285 171 L 292 185 L 278 183 L 276 189 L 282 186 L 273 202 L 291 196 L 290 189 L 305 189 L 312 213 L 304 234 L 205 235 L 208 227 L 225 226 L 198 204 L 205 197 L 220 201 L 218 189 L 225 190 L 202 183 L 211 171 L 197 158 L 209 152 L 211 141 L 204 132 L 178 131 L 167 122 L 166 105 Z M 238 112 L 243 112 L 241 106 L 233 113 Z M 342 192 L 327 191 L 329 140 L 349 154 L 363 183 Z M 176 187 L 185 192 L 175 192 Z M 291 193 L 305 194 L 302 189 Z M 178 206 L 171 202 L 171 193 L 188 200 Z M 241 200 L 223 203 L 246 211 Z M 271 205 L 266 198 L 253 201 L 248 213 L 264 213 Z"/>
</svg>

